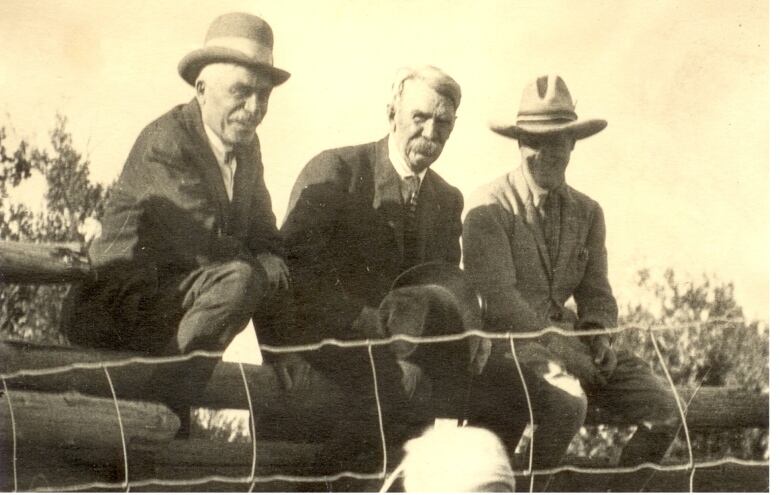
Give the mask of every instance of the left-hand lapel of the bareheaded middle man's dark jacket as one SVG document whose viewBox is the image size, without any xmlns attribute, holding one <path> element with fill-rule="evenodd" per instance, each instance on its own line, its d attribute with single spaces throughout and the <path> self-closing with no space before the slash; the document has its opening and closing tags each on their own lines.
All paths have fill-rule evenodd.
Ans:
<svg viewBox="0 0 780 495">
<path fill-rule="evenodd" d="M 379 212 L 393 229 L 398 252 L 404 249 L 403 198 L 401 179 L 390 163 L 387 151 L 388 138 L 376 145 L 374 156 L 374 210 Z"/>
</svg>

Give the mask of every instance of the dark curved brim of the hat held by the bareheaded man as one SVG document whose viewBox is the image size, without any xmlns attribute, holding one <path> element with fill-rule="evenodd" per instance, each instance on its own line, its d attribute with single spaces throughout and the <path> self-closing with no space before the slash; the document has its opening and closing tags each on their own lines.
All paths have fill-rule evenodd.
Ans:
<svg viewBox="0 0 780 495">
<path fill-rule="evenodd" d="M 482 328 L 482 315 L 477 293 L 466 282 L 463 271 L 448 263 L 431 261 L 405 270 L 396 277 L 393 289 L 414 285 L 434 285 L 449 291 L 467 328 Z"/>
</svg>

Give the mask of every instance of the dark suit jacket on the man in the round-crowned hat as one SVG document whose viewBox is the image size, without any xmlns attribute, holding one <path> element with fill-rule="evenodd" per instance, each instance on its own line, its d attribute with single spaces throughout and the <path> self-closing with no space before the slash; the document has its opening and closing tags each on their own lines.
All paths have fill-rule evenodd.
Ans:
<svg viewBox="0 0 780 495">
<path fill-rule="evenodd" d="M 257 138 L 236 148 L 233 201 L 228 200 L 196 100 L 149 124 L 135 142 L 89 249 L 97 280 L 76 304 L 132 327 L 137 306 L 167 278 L 219 261 L 282 254 L 281 237 L 263 181 Z M 78 320 L 78 317 L 76 317 Z M 78 332 L 76 332 L 78 333 Z M 79 340 L 76 335 L 75 340 Z"/>
</svg>

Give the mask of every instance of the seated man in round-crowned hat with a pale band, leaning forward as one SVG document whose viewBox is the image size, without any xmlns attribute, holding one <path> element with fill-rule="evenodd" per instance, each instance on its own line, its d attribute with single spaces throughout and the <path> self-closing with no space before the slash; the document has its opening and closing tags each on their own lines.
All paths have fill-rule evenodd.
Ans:
<svg viewBox="0 0 780 495">
<path fill-rule="evenodd" d="M 179 74 L 195 97 L 149 124 L 89 247 L 96 280 L 76 296 L 72 342 L 150 355 L 223 350 L 255 318 L 258 333 L 288 287 L 284 250 L 255 134 L 274 87 L 273 33 L 230 13 Z M 273 341 L 270 335 L 263 335 Z M 149 393 L 180 415 L 213 362 L 159 368 Z"/>
</svg>

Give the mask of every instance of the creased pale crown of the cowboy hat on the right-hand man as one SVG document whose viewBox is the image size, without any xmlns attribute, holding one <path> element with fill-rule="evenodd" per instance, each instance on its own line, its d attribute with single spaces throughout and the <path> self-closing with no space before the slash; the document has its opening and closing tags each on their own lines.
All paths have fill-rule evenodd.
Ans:
<svg viewBox="0 0 780 495">
<path fill-rule="evenodd" d="M 577 120 L 569 88 L 560 76 L 537 77 L 525 87 L 517 111 L 517 122 Z"/>
</svg>

